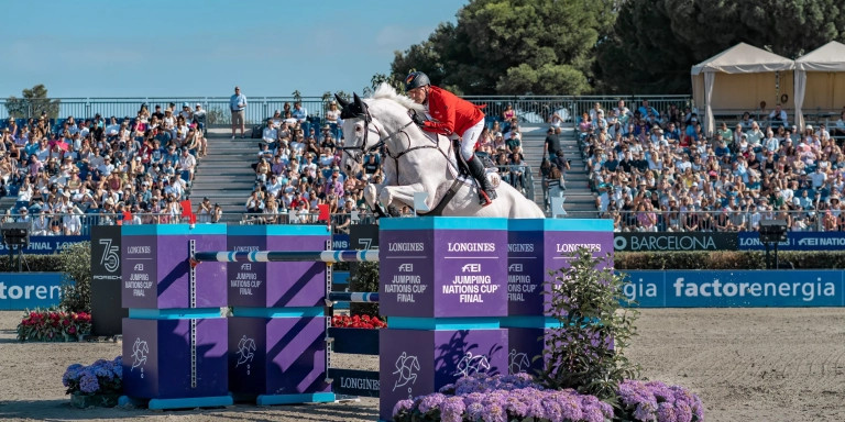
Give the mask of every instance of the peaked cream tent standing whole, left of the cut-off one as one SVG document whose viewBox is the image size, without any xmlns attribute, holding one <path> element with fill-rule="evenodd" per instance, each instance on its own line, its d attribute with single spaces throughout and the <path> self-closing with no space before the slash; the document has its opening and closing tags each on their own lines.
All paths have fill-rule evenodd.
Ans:
<svg viewBox="0 0 845 422">
<path fill-rule="evenodd" d="M 692 67 L 692 91 L 695 104 L 704 106 L 704 132 L 713 133 L 713 109 L 755 109 L 760 99 L 776 93 L 779 71 L 792 71 L 794 62 L 775 53 L 739 43 Z M 780 91 L 790 78 L 780 79 Z M 786 107 L 786 104 L 784 104 Z"/>
</svg>

